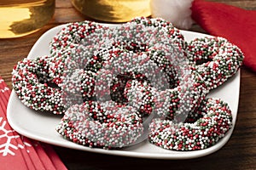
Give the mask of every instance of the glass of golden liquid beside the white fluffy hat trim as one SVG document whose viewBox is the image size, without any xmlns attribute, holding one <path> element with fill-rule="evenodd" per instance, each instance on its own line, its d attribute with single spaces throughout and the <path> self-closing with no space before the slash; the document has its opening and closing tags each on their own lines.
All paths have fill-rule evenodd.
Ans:
<svg viewBox="0 0 256 170">
<path fill-rule="evenodd" d="M 71 0 L 82 14 L 95 20 L 125 22 L 150 15 L 150 0 Z"/>
</svg>

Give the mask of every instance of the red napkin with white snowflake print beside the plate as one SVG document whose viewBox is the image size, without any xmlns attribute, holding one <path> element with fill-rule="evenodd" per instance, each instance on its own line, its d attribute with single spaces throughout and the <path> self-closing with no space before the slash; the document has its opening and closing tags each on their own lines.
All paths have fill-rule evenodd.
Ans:
<svg viewBox="0 0 256 170">
<path fill-rule="evenodd" d="M 27 139 L 9 126 L 9 95 L 10 90 L 0 77 L 0 169 L 67 169 L 49 144 Z"/>
</svg>

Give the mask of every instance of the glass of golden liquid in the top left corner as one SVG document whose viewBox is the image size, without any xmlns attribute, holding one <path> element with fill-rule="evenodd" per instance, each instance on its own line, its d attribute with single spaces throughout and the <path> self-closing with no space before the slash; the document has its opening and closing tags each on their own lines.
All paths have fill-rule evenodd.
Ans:
<svg viewBox="0 0 256 170">
<path fill-rule="evenodd" d="M 52 18 L 55 0 L 0 0 L 0 38 L 38 31 Z"/>
</svg>

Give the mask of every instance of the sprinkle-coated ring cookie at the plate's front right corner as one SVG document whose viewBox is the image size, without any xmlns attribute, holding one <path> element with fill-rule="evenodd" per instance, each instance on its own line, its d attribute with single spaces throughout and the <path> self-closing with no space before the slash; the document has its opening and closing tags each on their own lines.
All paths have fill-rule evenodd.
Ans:
<svg viewBox="0 0 256 170">
<path fill-rule="evenodd" d="M 149 126 L 149 142 L 167 150 L 203 150 L 216 144 L 232 127 L 230 108 L 220 99 L 204 99 L 195 113 L 201 118 L 193 123 L 154 119 Z"/>
</svg>

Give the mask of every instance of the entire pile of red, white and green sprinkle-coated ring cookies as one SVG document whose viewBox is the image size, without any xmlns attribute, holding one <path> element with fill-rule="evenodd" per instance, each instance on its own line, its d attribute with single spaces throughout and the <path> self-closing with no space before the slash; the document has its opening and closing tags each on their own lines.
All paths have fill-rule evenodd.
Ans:
<svg viewBox="0 0 256 170">
<path fill-rule="evenodd" d="M 129 146 L 152 114 L 148 140 L 167 150 L 206 149 L 232 127 L 228 104 L 207 98 L 243 60 L 222 37 L 185 42 L 172 23 L 141 17 L 117 28 L 67 24 L 49 48 L 15 66 L 13 87 L 29 108 L 64 113 L 56 131 L 74 143 Z"/>
</svg>

